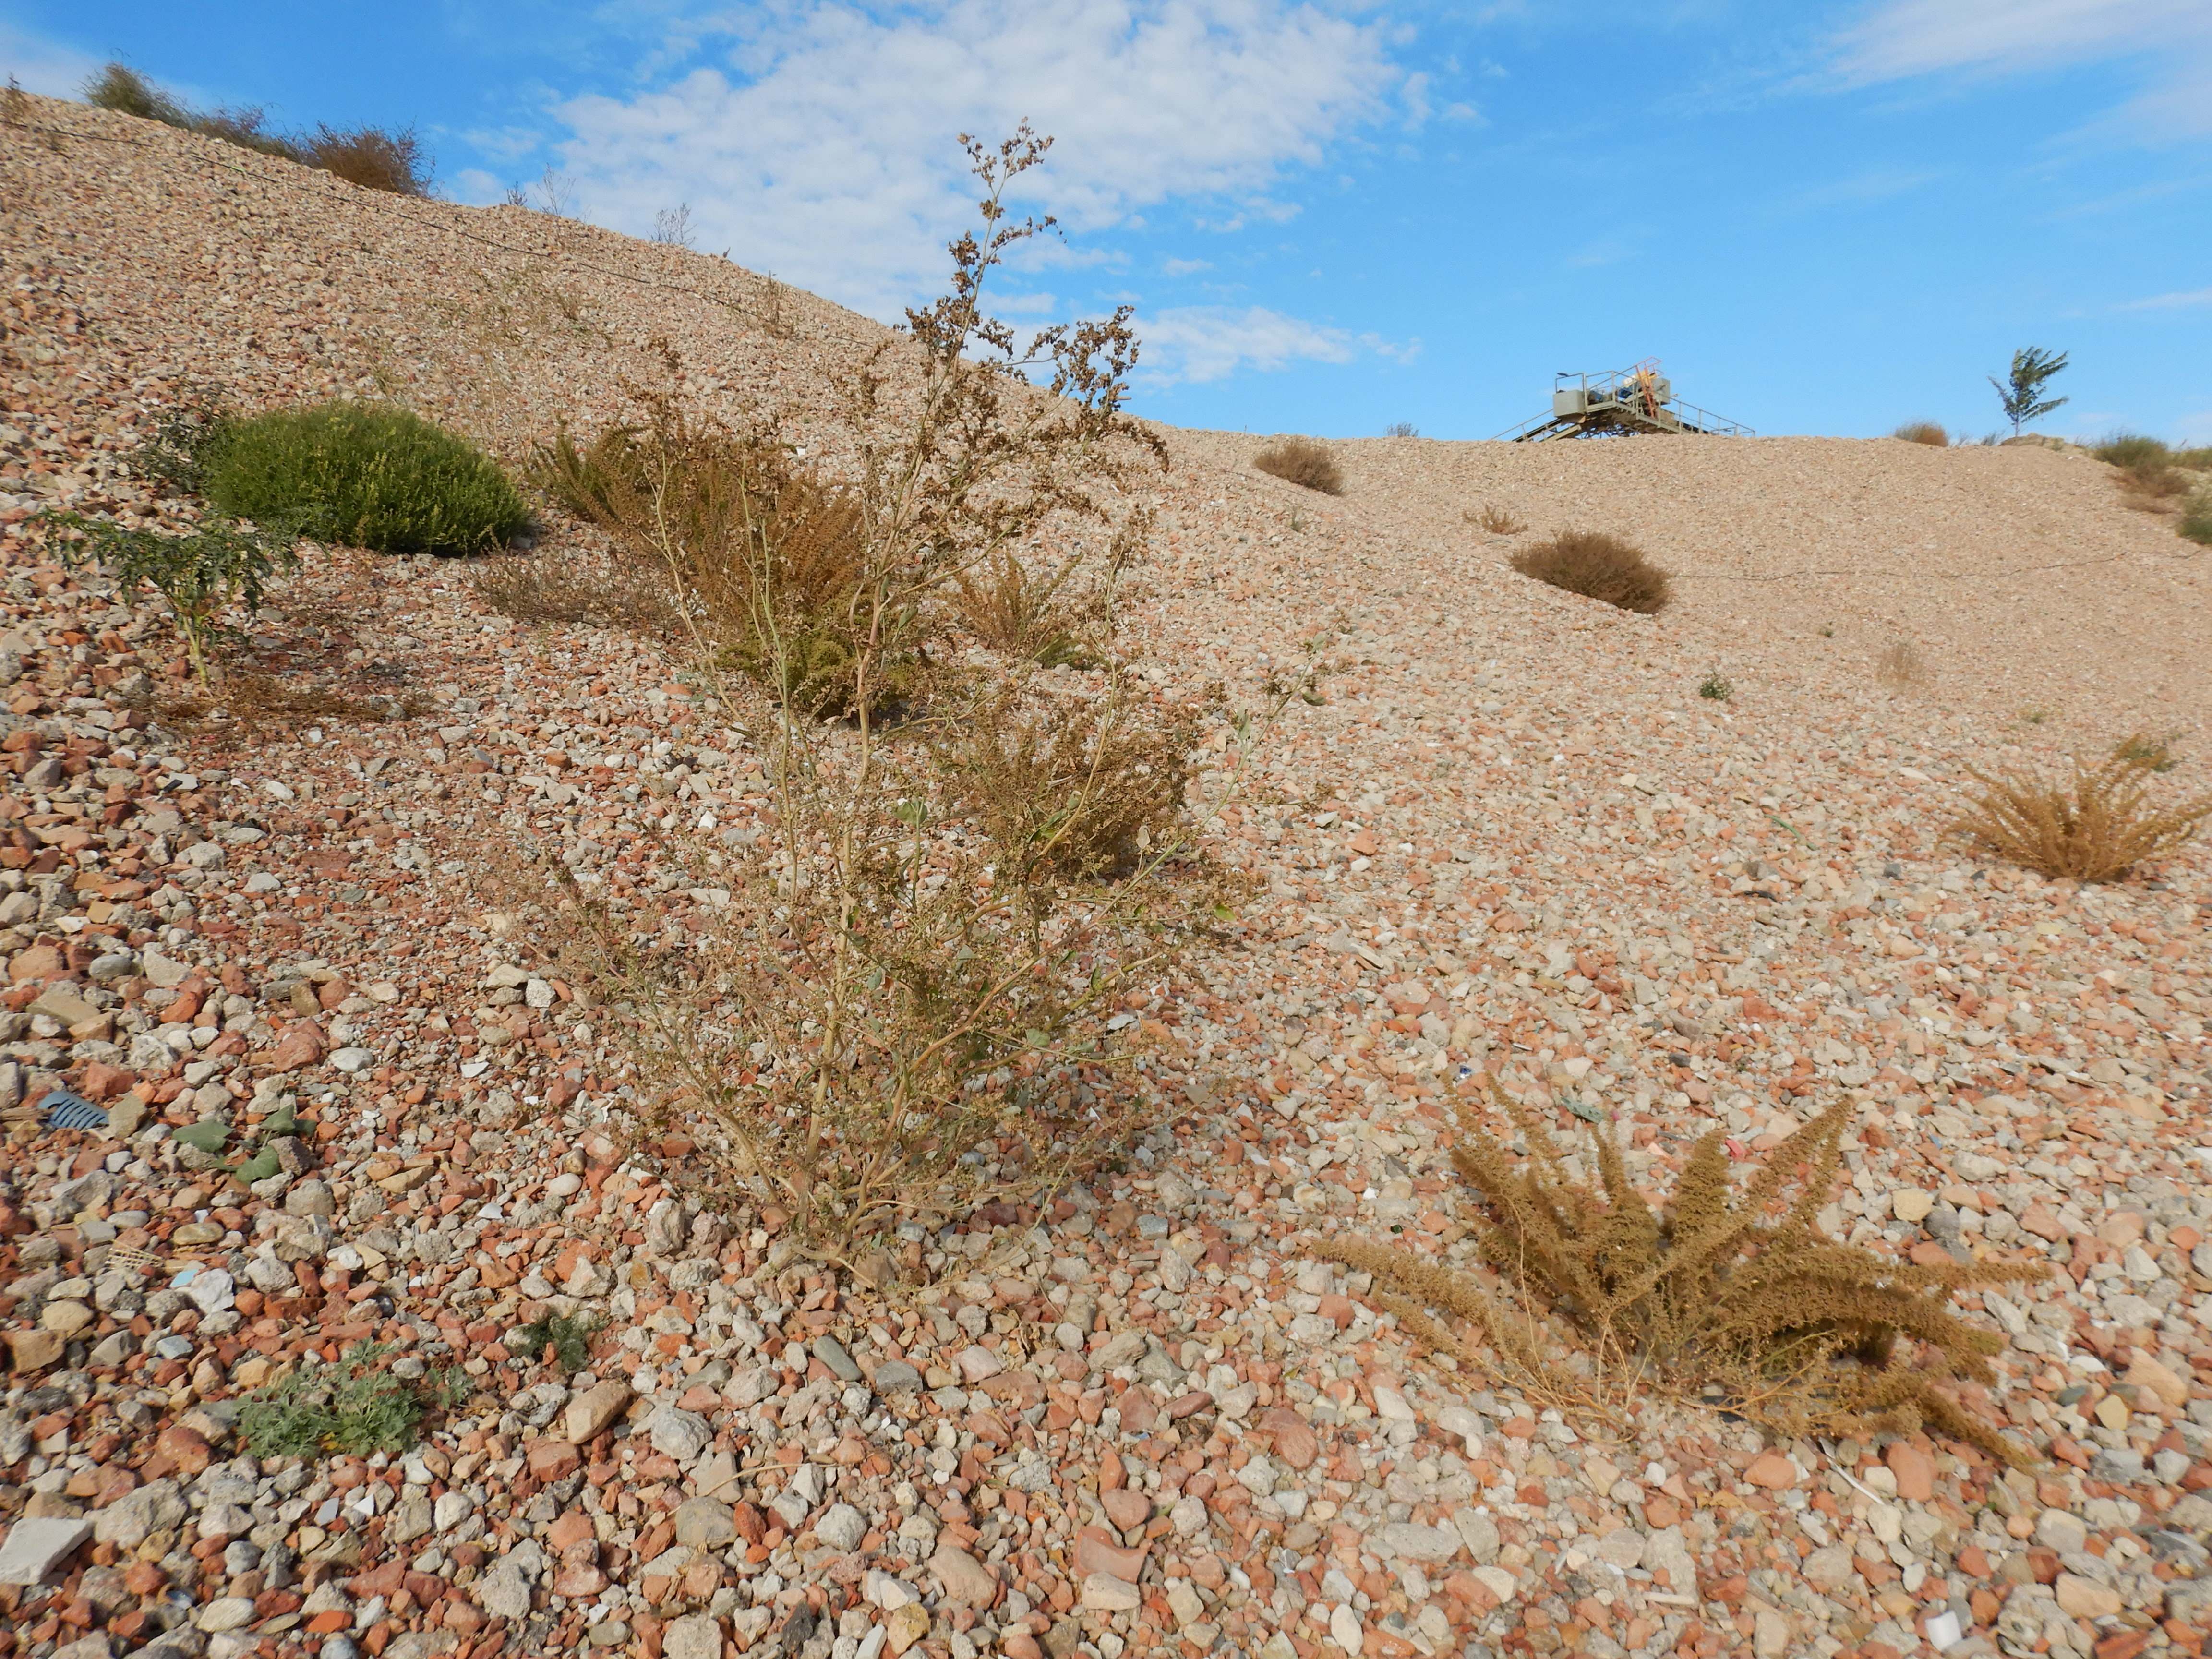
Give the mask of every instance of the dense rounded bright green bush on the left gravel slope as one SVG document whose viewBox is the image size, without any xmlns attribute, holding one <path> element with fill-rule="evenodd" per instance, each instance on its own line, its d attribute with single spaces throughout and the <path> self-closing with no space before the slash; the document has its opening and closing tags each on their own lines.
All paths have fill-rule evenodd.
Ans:
<svg viewBox="0 0 2212 1659">
<path fill-rule="evenodd" d="M 407 409 L 319 403 L 239 420 L 206 456 L 208 500 L 303 535 L 383 553 L 480 553 L 529 524 L 476 445 Z"/>
</svg>

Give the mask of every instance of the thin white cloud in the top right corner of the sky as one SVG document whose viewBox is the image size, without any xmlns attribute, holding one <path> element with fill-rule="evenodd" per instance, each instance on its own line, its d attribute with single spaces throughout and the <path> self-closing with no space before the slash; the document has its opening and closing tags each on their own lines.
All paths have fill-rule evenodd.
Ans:
<svg viewBox="0 0 2212 1659">
<path fill-rule="evenodd" d="M 1863 84 L 2143 55 L 2150 82 L 2121 115 L 2161 135 L 2212 133 L 2205 0 L 1880 0 L 1836 49 Z"/>
</svg>

